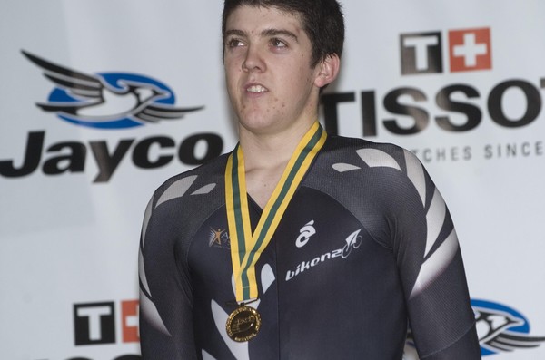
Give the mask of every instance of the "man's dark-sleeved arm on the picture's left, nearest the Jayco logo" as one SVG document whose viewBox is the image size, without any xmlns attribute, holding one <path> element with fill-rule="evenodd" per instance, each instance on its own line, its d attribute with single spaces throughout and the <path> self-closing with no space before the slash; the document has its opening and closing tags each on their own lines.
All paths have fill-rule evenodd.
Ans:
<svg viewBox="0 0 545 360">
<path fill-rule="evenodd" d="M 140 338 L 144 360 L 196 359 L 189 277 L 179 268 L 172 209 L 152 199 L 140 241 Z"/>
</svg>

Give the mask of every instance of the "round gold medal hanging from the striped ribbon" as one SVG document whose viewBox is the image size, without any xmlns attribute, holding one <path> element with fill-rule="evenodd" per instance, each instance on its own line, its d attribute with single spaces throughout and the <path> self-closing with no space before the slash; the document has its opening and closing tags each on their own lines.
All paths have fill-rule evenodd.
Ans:
<svg viewBox="0 0 545 360">
<path fill-rule="evenodd" d="M 227 318 L 227 335 L 239 343 L 249 341 L 261 327 L 261 316 L 253 307 L 239 306 Z"/>
</svg>

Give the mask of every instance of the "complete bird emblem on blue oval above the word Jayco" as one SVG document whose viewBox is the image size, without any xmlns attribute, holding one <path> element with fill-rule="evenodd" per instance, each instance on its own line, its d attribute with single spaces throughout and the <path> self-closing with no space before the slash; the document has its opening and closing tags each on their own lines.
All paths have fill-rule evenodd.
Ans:
<svg viewBox="0 0 545 360">
<path fill-rule="evenodd" d="M 56 86 L 47 102 L 36 103 L 66 122 L 95 129 L 124 129 L 145 123 L 176 120 L 203 106 L 174 106 L 173 91 L 150 77 L 135 73 L 83 73 L 52 63 L 25 50 L 22 54 Z"/>
</svg>

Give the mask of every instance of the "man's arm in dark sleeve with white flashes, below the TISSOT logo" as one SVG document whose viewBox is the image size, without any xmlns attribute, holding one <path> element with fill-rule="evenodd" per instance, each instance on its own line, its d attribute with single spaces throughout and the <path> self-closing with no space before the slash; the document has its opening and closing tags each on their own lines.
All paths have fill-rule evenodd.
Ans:
<svg viewBox="0 0 545 360">
<path fill-rule="evenodd" d="M 405 168 L 413 190 L 406 187 L 407 197 L 398 201 L 394 244 L 419 355 L 421 359 L 480 359 L 451 214 L 427 171 L 409 151 L 405 151 Z"/>
</svg>

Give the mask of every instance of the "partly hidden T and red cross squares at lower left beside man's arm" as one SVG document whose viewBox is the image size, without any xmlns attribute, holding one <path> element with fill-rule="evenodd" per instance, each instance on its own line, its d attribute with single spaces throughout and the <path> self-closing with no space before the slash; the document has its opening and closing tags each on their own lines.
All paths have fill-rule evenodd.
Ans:
<svg viewBox="0 0 545 360">
<path fill-rule="evenodd" d="M 121 329 L 123 343 L 137 343 L 138 300 L 122 301 Z M 115 303 L 88 303 L 74 305 L 75 345 L 104 345 L 116 343 Z"/>
</svg>

